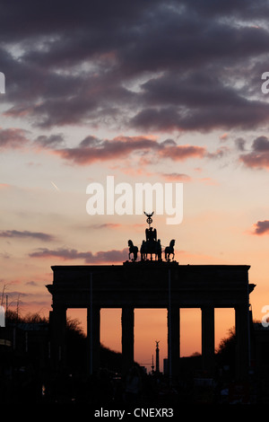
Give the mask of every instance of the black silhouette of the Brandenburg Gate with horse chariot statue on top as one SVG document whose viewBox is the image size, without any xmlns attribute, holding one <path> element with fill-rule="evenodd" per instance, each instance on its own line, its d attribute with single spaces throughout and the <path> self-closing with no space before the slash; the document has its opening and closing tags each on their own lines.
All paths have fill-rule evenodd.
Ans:
<svg viewBox="0 0 269 422">
<path fill-rule="evenodd" d="M 152 213 L 153 214 L 153 213 Z M 137 260 L 138 248 L 129 241 L 129 260 L 122 265 L 52 266 L 53 284 L 50 324 L 51 352 L 56 367 L 65 365 L 65 325 L 68 308 L 87 309 L 88 371 L 100 367 L 100 310 L 121 308 L 122 374 L 134 364 L 134 309 L 166 308 L 169 376 L 178 379 L 180 361 L 180 308 L 202 312 L 202 365 L 206 374 L 214 367 L 214 308 L 234 308 L 236 329 L 235 366 L 238 380 L 249 370 L 249 265 L 179 265 L 170 242 L 161 258 L 161 241 L 149 228 Z M 133 254 L 133 259 L 130 255 Z M 170 254 L 172 258 L 170 259 Z M 155 255 L 155 259 L 153 256 Z M 150 257 L 150 258 L 149 258 Z"/>
</svg>

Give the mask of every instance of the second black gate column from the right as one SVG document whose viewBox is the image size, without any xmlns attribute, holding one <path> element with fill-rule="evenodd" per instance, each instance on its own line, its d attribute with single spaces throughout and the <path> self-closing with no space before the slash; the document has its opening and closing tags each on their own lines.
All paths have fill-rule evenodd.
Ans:
<svg viewBox="0 0 269 422">
<path fill-rule="evenodd" d="M 202 366 L 209 376 L 213 375 L 214 350 L 214 308 L 204 306 L 202 308 Z"/>
</svg>

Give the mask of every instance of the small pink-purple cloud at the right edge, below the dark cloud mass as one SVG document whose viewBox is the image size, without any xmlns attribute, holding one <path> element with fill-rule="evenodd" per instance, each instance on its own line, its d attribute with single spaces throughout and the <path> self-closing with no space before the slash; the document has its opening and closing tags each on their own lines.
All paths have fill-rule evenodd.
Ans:
<svg viewBox="0 0 269 422">
<path fill-rule="evenodd" d="M 258 136 L 251 145 L 252 151 L 241 154 L 239 161 L 251 169 L 269 169 L 269 139 Z"/>
</svg>

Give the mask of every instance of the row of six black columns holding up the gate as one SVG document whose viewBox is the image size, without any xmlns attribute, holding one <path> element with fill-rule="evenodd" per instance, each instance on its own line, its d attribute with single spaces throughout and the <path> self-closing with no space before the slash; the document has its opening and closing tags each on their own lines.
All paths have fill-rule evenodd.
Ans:
<svg viewBox="0 0 269 422">
<path fill-rule="evenodd" d="M 205 306 L 202 310 L 202 365 L 204 371 L 212 375 L 214 368 L 214 307 Z M 249 320 L 248 306 L 235 308 L 237 335 L 236 368 L 237 377 L 247 376 L 249 365 Z M 66 309 L 56 307 L 52 312 L 56 361 L 65 365 L 65 324 Z M 122 366 L 123 374 L 134 364 L 134 307 L 122 308 Z M 100 307 L 87 308 L 88 371 L 95 373 L 100 367 Z M 170 378 L 177 378 L 180 359 L 180 310 L 172 305 L 168 309 L 168 357 Z"/>
</svg>

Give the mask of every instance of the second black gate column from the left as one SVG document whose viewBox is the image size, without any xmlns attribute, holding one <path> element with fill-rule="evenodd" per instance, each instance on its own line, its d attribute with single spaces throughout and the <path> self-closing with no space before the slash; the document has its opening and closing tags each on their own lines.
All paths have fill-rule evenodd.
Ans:
<svg viewBox="0 0 269 422">
<path fill-rule="evenodd" d="M 100 367 L 100 307 L 87 308 L 88 372 L 96 374 Z"/>
</svg>

